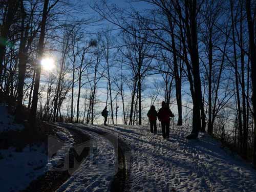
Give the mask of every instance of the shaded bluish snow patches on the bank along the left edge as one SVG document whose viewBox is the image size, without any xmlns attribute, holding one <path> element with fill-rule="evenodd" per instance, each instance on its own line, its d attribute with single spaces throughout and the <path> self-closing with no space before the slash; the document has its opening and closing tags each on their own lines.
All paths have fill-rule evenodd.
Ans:
<svg viewBox="0 0 256 192">
<path fill-rule="evenodd" d="M 23 129 L 24 125 L 14 123 L 8 105 L 0 103 L 0 133 Z M 15 147 L 0 150 L 0 191 L 15 192 L 26 188 L 31 181 L 45 173 L 46 164 L 46 148 L 43 145 L 27 145 L 22 151 Z"/>
</svg>

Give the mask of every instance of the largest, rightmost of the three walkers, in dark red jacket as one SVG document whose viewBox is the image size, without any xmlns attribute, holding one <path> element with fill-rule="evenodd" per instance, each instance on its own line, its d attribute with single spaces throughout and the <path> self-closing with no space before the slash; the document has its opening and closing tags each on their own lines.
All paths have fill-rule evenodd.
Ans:
<svg viewBox="0 0 256 192">
<path fill-rule="evenodd" d="M 163 138 L 168 139 L 170 133 L 170 117 L 174 117 L 174 114 L 170 111 L 169 105 L 164 101 L 162 102 L 162 108 L 158 111 L 157 117 L 161 122 Z"/>
</svg>

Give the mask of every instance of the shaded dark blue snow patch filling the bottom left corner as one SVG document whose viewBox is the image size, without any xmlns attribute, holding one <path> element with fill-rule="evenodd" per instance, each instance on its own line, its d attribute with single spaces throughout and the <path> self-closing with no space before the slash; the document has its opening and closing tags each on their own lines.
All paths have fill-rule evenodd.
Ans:
<svg viewBox="0 0 256 192">
<path fill-rule="evenodd" d="M 0 186 L 3 192 L 16 192 L 46 171 L 47 156 L 44 146 L 27 146 L 22 152 L 15 148 L 0 150 Z"/>
</svg>

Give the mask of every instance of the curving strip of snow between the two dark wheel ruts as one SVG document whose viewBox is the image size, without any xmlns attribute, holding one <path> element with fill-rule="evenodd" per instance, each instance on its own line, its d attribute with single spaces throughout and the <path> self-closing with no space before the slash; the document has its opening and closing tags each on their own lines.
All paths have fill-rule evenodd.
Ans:
<svg viewBox="0 0 256 192">
<path fill-rule="evenodd" d="M 55 123 L 57 124 L 57 123 Z M 59 124 L 63 126 L 63 124 Z M 115 175 L 115 149 L 112 143 L 94 132 L 82 130 L 72 124 L 73 129 L 90 136 L 90 141 L 80 144 L 81 147 L 90 147 L 90 155 L 83 160 L 79 168 L 63 183 L 60 191 L 109 191 L 110 183 Z M 76 150 L 79 148 L 76 146 Z"/>
</svg>

